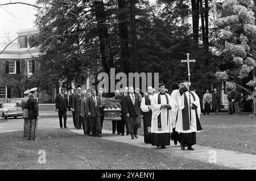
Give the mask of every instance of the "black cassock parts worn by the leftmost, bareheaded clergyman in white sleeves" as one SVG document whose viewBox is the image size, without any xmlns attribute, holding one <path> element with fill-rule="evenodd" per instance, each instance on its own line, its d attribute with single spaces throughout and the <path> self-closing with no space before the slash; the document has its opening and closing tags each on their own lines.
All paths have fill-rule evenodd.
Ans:
<svg viewBox="0 0 256 181">
<path fill-rule="evenodd" d="M 151 101 L 148 98 L 148 95 L 144 97 L 145 104 L 147 106 L 151 105 Z M 151 118 L 152 118 L 152 111 L 143 112 L 143 129 L 144 129 L 144 142 L 145 143 L 151 143 L 151 133 L 148 132 L 148 127 L 151 127 Z"/>
</svg>

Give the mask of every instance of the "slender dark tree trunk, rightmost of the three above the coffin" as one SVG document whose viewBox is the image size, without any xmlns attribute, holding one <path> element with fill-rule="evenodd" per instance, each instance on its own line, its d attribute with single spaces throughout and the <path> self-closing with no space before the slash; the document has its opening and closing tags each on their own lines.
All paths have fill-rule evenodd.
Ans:
<svg viewBox="0 0 256 181">
<path fill-rule="evenodd" d="M 134 61 L 134 70 L 139 73 L 139 57 L 137 45 L 137 31 L 135 22 L 135 0 L 130 0 L 130 15 L 131 15 L 131 45 L 132 57 Z"/>
</svg>

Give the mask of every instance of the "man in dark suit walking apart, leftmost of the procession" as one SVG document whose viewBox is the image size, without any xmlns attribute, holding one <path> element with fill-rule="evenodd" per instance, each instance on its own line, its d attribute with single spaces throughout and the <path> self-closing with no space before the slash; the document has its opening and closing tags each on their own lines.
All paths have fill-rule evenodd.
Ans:
<svg viewBox="0 0 256 181">
<path fill-rule="evenodd" d="M 68 95 L 65 94 L 65 89 L 60 89 L 60 94 L 57 94 L 55 99 L 56 110 L 59 114 L 60 128 L 63 129 L 62 117 L 64 119 L 64 128 L 67 127 L 67 110 L 68 110 Z"/>
</svg>

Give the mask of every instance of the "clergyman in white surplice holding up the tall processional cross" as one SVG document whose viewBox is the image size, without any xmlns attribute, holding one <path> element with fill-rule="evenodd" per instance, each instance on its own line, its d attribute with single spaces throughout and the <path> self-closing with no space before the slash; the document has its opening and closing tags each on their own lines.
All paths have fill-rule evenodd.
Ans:
<svg viewBox="0 0 256 181">
<path fill-rule="evenodd" d="M 190 84 L 190 82 L 184 82 L 183 87 L 179 89 L 179 94 L 176 94 L 179 110 L 175 130 L 179 132 L 181 150 L 185 149 L 185 144 L 188 145 L 188 150 L 194 150 L 192 145 L 196 144 L 196 132 L 202 130 L 199 121 L 200 100 L 194 91 L 188 91 Z"/>
</svg>

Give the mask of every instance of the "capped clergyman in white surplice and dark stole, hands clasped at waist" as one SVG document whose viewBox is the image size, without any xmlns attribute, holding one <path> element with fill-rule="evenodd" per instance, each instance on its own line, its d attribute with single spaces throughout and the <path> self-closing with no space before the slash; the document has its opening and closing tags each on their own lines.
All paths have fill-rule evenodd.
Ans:
<svg viewBox="0 0 256 181">
<path fill-rule="evenodd" d="M 154 94 L 151 101 L 151 144 L 157 147 L 161 146 L 161 148 L 170 145 L 170 134 L 172 132 L 171 110 L 174 109 L 170 95 L 164 90 L 164 83 L 159 83 L 159 92 Z"/>
</svg>

